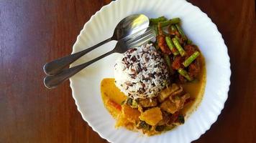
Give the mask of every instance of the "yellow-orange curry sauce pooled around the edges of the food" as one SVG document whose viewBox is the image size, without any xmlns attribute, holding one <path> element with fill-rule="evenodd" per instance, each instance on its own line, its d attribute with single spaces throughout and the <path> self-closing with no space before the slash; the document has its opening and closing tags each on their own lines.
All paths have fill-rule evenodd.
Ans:
<svg viewBox="0 0 256 143">
<path fill-rule="evenodd" d="M 204 88 L 206 84 L 206 67 L 203 58 L 201 59 L 201 62 L 203 64 L 201 65 L 201 73 L 198 75 L 198 80 L 195 82 L 181 84 L 185 91 L 188 92 L 193 99 L 181 110 L 183 114 L 186 114 L 186 118 L 188 117 L 188 114 L 191 114 L 191 112 L 198 107 L 198 104 L 200 104 L 204 95 Z M 114 117 L 114 119 L 117 119 L 119 114 L 122 112 L 122 102 L 124 102 L 127 97 L 124 95 L 124 93 L 120 92 L 120 89 L 116 87 L 114 78 L 106 78 L 101 81 L 101 97 L 106 109 Z M 128 126 L 127 128 L 133 130 L 132 125 L 131 127 Z M 152 135 L 157 133 L 151 132 L 147 134 Z"/>
</svg>

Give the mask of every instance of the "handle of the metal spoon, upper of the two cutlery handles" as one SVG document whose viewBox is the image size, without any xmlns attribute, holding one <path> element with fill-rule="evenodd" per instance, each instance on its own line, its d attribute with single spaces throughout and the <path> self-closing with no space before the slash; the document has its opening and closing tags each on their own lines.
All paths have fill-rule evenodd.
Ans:
<svg viewBox="0 0 256 143">
<path fill-rule="evenodd" d="M 94 46 L 91 46 L 88 49 L 84 49 L 83 51 L 79 51 L 75 54 L 70 54 L 68 56 L 64 56 L 60 59 L 56 59 L 54 61 L 50 61 L 47 64 L 44 65 L 43 69 L 45 71 L 45 74 L 51 76 L 60 73 L 62 69 L 64 69 L 69 64 L 73 63 L 77 59 L 79 59 L 81 56 L 85 55 L 89 51 L 92 51 L 93 49 L 96 49 L 98 46 L 101 46 L 109 41 L 112 40 L 112 37 L 109 39 L 106 39 L 104 41 L 101 41 L 99 44 L 96 44 Z"/>
</svg>

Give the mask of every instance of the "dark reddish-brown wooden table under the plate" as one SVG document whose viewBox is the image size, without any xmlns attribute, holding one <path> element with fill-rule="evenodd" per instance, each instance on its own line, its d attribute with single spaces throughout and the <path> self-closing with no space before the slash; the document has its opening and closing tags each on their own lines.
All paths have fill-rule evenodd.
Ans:
<svg viewBox="0 0 256 143">
<path fill-rule="evenodd" d="M 106 142 L 81 118 L 68 82 L 57 89 L 44 87 L 42 66 L 70 54 L 83 24 L 108 3 L 0 1 L 0 142 Z M 218 26 L 232 68 L 225 108 L 195 142 L 256 142 L 255 1 L 191 3 Z"/>
</svg>

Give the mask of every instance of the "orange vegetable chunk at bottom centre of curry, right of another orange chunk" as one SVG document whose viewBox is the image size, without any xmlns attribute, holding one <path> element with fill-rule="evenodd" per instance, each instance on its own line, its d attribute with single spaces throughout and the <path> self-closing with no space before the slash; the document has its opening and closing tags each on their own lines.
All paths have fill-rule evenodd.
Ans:
<svg viewBox="0 0 256 143">
<path fill-rule="evenodd" d="M 147 109 L 140 115 L 140 119 L 145 121 L 147 124 L 151 126 L 155 126 L 158 122 L 163 119 L 162 112 L 159 107 L 154 107 L 151 109 Z"/>
</svg>

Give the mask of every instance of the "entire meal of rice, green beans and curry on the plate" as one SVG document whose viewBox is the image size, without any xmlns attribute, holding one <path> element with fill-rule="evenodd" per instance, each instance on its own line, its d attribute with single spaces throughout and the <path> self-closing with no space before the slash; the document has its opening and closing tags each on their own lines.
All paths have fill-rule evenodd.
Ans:
<svg viewBox="0 0 256 143">
<path fill-rule="evenodd" d="M 101 81 L 101 97 L 116 128 L 148 136 L 186 122 L 204 94 L 206 67 L 198 46 L 188 39 L 180 19 L 150 19 L 156 40 L 125 52 L 114 79 Z"/>
</svg>

